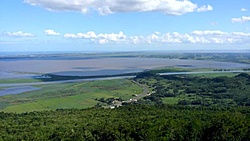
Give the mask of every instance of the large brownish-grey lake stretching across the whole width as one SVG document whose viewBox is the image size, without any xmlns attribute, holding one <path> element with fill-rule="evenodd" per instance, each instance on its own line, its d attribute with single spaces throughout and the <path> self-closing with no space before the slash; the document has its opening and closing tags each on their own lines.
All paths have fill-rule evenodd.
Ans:
<svg viewBox="0 0 250 141">
<path fill-rule="evenodd" d="M 88 59 L 53 59 L 46 60 L 0 60 L 0 72 L 16 73 L 20 75 L 58 74 L 70 76 L 95 76 L 114 75 L 129 72 L 140 72 L 147 69 L 159 67 L 192 67 L 192 68 L 214 68 L 214 69 L 241 69 L 250 68 L 250 64 L 216 62 L 204 60 L 181 60 L 165 58 L 136 58 L 136 57 L 116 57 L 116 58 L 88 58 Z M 16 78 L 16 75 L 9 75 L 8 78 Z M 25 77 L 25 76 L 24 76 Z M 27 77 L 27 76 L 26 76 Z M 1 75 L 0 79 L 6 78 Z"/>
</svg>

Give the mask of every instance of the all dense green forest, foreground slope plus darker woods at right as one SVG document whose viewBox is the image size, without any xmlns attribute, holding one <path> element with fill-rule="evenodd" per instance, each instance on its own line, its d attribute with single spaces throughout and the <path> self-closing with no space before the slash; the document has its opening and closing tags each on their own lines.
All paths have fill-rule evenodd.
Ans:
<svg viewBox="0 0 250 141">
<path fill-rule="evenodd" d="M 0 112 L 0 141 L 250 140 L 249 74 L 161 76 L 149 71 L 134 80 L 152 94 L 115 109 Z"/>
</svg>

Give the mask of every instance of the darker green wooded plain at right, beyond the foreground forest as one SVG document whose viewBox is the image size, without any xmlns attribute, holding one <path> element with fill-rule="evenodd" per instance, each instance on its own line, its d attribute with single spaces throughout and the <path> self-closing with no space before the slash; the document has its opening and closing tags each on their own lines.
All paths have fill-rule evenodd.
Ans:
<svg viewBox="0 0 250 141">
<path fill-rule="evenodd" d="M 144 72 L 136 80 L 154 91 L 154 94 L 145 97 L 141 103 L 162 104 L 164 100 L 175 99 L 178 105 L 250 106 L 250 75 L 247 73 L 233 77 L 209 78 L 189 75 L 160 76 Z"/>
</svg>

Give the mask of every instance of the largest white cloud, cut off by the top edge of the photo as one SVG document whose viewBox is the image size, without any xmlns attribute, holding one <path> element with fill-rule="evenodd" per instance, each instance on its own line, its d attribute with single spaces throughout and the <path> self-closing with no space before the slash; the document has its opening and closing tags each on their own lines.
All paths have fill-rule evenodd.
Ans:
<svg viewBox="0 0 250 141">
<path fill-rule="evenodd" d="M 162 12 L 182 15 L 189 12 L 212 10 L 212 6 L 202 6 L 189 0 L 24 0 L 34 6 L 50 11 L 78 11 L 86 13 L 98 11 L 101 15 L 122 12 Z"/>
</svg>

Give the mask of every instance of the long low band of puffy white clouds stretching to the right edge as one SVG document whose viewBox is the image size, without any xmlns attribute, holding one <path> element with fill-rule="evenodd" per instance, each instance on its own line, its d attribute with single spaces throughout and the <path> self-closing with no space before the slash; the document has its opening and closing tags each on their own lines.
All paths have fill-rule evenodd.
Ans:
<svg viewBox="0 0 250 141">
<path fill-rule="evenodd" d="M 107 43 L 126 43 L 126 44 L 232 44 L 249 43 L 250 33 L 244 32 L 223 32 L 220 30 L 195 30 L 191 33 L 163 33 L 155 32 L 147 36 L 126 36 L 123 32 L 100 33 L 93 31 L 87 33 L 65 34 L 65 38 L 87 39 L 89 41 Z"/>
</svg>

